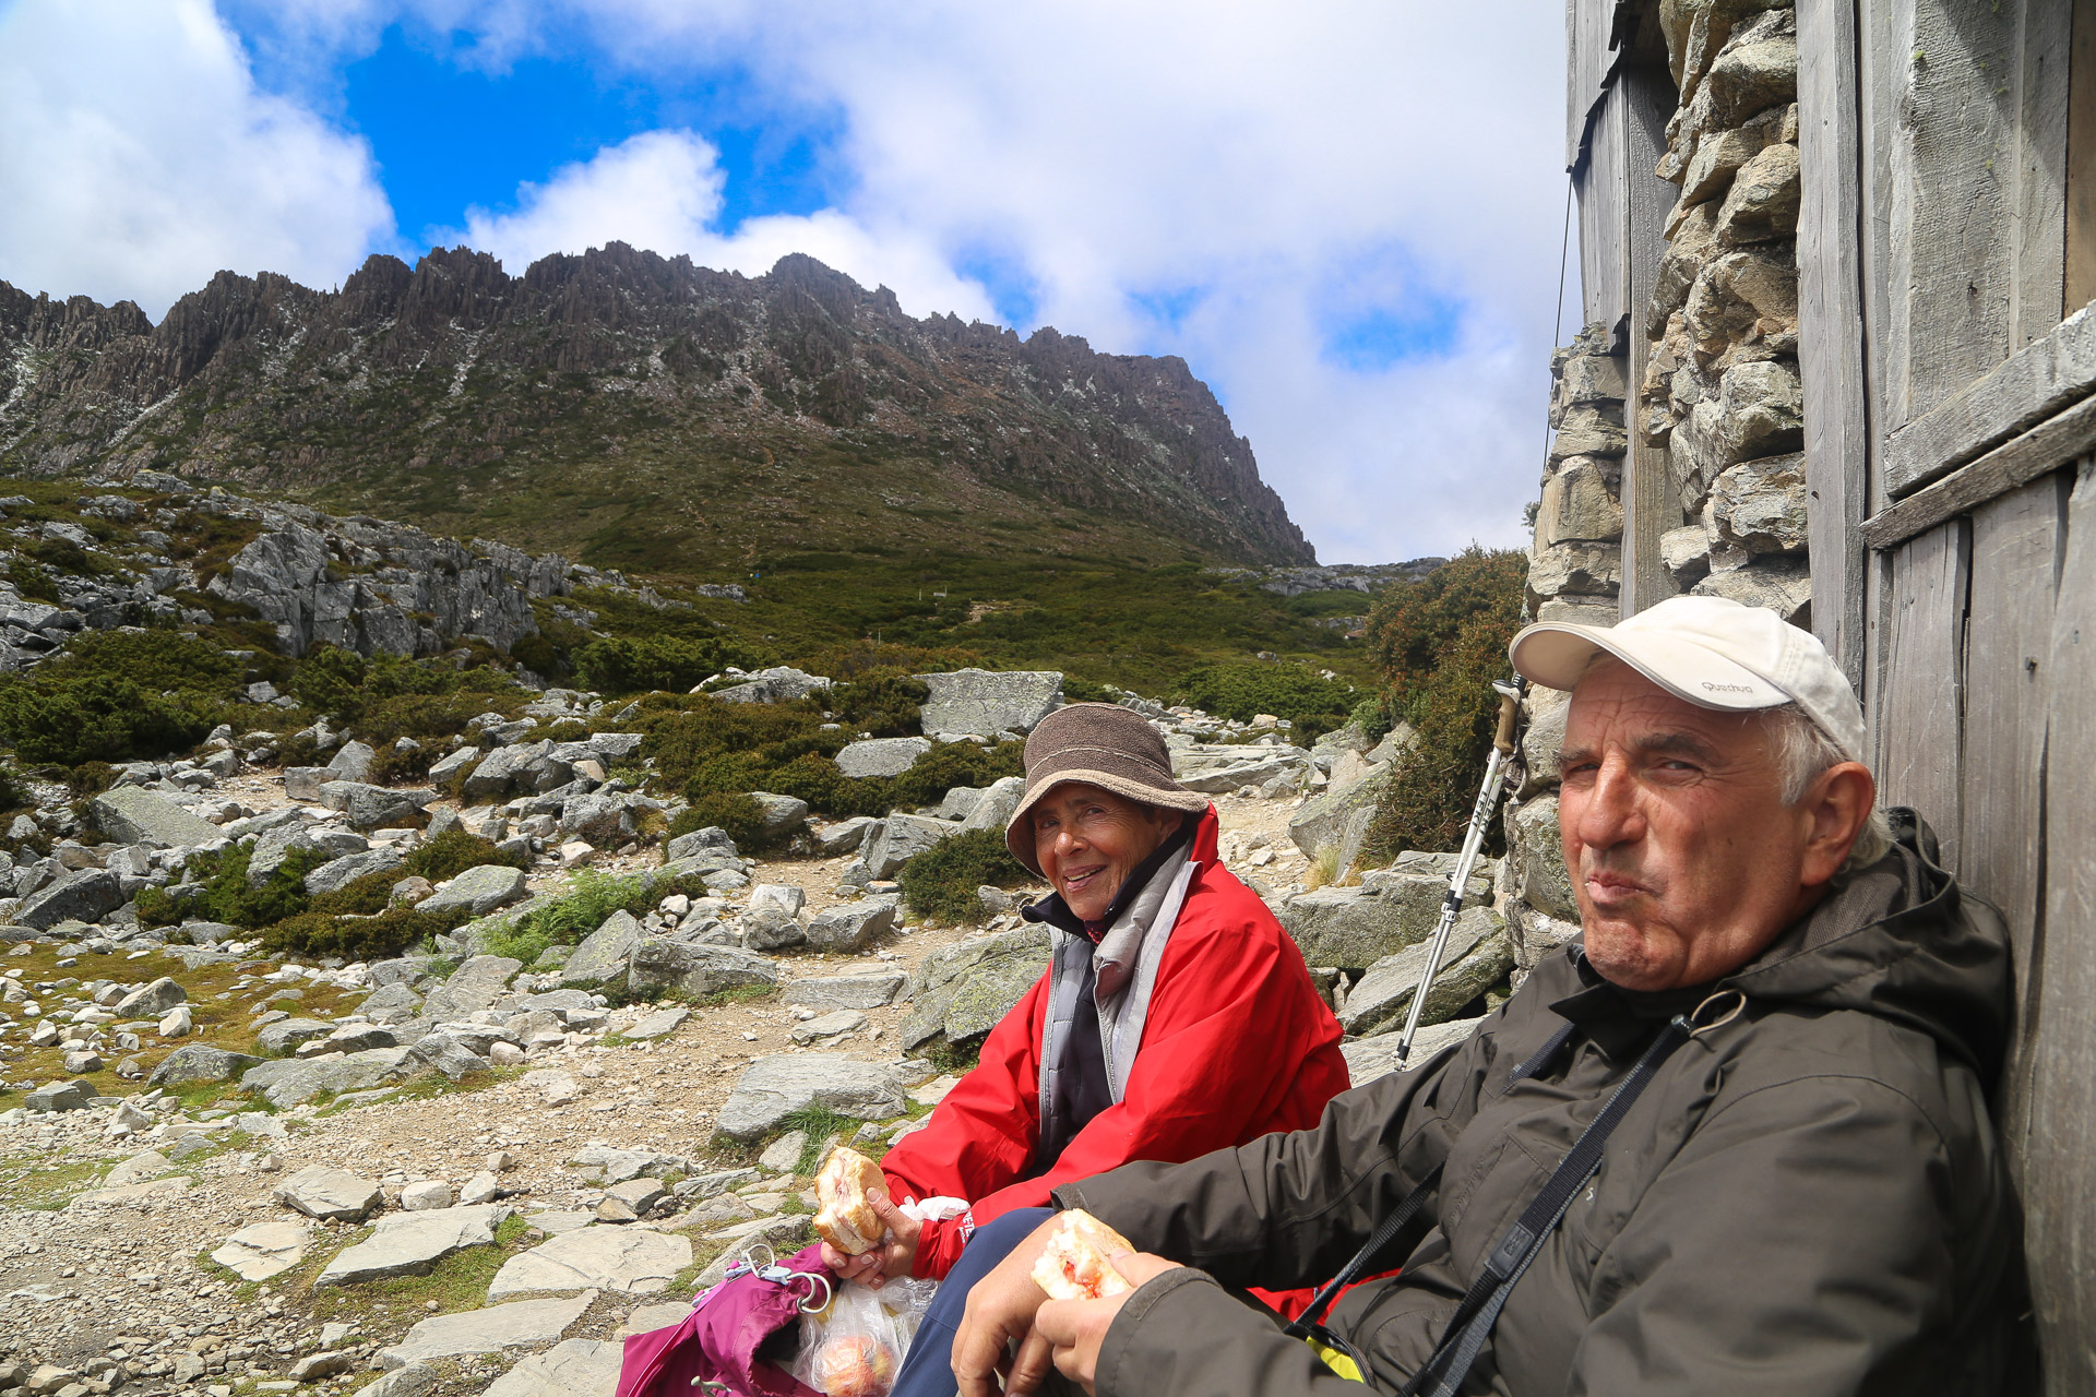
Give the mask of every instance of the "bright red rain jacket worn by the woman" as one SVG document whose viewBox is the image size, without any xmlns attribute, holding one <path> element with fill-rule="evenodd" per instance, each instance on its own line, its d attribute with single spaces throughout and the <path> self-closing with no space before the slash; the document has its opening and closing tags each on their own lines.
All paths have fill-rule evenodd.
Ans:
<svg viewBox="0 0 2096 1397">
<path fill-rule="evenodd" d="M 1260 896 L 1216 857 L 1216 808 L 1201 817 L 1199 865 L 1151 991 L 1128 1093 L 1098 1112 L 1044 1175 L 1025 1177 L 1040 1133 L 1048 976 L 983 1041 L 981 1062 L 931 1125 L 880 1160 L 891 1196 L 966 1198 L 968 1227 L 1048 1204 L 1048 1190 L 1130 1160 L 1182 1162 L 1272 1131 L 1318 1123 L 1348 1089 L 1339 1020 L 1310 984 L 1302 951 Z M 916 1273 L 943 1278 L 964 1219 L 924 1223 Z"/>
</svg>

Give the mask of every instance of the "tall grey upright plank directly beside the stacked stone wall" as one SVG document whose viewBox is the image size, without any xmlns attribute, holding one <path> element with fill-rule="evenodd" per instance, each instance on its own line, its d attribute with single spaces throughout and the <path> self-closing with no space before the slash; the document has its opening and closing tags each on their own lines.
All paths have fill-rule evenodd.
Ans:
<svg viewBox="0 0 2096 1397">
<path fill-rule="evenodd" d="M 1855 0 L 1798 0 L 1798 373 L 1813 633 L 1863 683 L 1870 392 L 1863 377 L 1863 145 Z"/>
</svg>

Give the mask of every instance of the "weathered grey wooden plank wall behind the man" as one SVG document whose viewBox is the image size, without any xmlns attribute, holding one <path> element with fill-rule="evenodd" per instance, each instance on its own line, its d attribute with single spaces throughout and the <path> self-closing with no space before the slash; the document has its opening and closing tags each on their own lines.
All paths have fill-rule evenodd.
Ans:
<svg viewBox="0 0 2096 1397">
<path fill-rule="evenodd" d="M 2000 1125 L 2048 1393 L 2096 1393 L 2092 13 L 1798 0 L 1813 616 L 1884 798 L 2010 924 Z"/>
</svg>

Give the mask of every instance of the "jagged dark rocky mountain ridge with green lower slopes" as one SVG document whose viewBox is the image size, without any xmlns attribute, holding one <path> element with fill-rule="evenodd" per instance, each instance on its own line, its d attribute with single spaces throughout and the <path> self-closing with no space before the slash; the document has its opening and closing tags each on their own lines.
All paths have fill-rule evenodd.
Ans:
<svg viewBox="0 0 2096 1397">
<path fill-rule="evenodd" d="M 685 572 L 979 526 L 1314 563 L 1182 360 L 916 320 L 805 256 L 373 256 L 337 291 L 220 272 L 159 325 L 0 283 L 0 469 L 174 471 Z"/>
</svg>

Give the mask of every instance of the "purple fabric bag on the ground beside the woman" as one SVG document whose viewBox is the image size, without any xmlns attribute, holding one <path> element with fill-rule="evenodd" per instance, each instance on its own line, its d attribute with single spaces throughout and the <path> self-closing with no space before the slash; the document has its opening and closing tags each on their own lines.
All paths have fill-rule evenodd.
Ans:
<svg viewBox="0 0 2096 1397">
<path fill-rule="evenodd" d="M 830 1286 L 820 1242 L 784 1263 L 771 1261 L 769 1246 L 752 1246 L 727 1267 L 727 1280 L 692 1296 L 681 1324 L 627 1336 L 618 1397 L 692 1397 L 694 1384 L 740 1397 L 822 1397 L 786 1368 L 801 1343 L 801 1315 L 826 1307 Z"/>
</svg>

